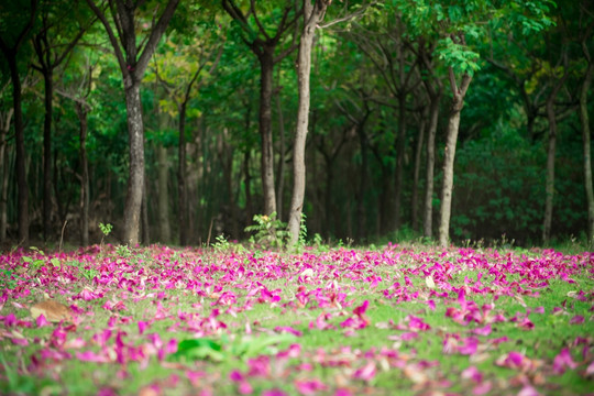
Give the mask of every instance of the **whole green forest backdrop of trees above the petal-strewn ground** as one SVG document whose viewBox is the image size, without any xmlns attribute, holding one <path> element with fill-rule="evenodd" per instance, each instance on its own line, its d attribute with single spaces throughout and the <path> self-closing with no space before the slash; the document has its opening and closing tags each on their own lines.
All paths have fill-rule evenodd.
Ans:
<svg viewBox="0 0 594 396">
<path fill-rule="evenodd" d="M 2 1 L 0 242 L 591 244 L 593 29 L 581 0 Z"/>
</svg>

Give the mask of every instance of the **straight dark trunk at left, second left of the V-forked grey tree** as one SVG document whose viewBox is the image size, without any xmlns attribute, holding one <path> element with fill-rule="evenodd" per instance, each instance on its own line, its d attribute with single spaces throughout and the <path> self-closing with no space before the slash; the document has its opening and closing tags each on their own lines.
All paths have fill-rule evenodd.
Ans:
<svg viewBox="0 0 594 396">
<path fill-rule="evenodd" d="M 52 68 L 43 69 L 45 114 L 43 122 L 43 239 L 52 233 L 52 113 L 54 81 Z"/>
</svg>

